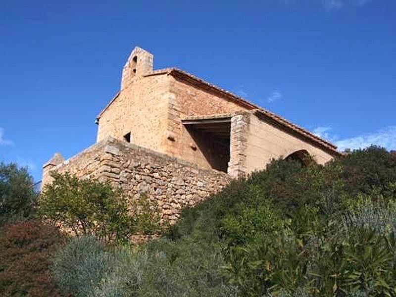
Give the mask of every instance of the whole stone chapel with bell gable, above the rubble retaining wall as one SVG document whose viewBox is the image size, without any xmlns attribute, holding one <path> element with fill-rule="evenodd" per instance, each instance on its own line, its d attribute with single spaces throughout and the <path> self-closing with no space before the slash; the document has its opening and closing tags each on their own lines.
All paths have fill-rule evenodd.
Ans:
<svg viewBox="0 0 396 297">
<path fill-rule="evenodd" d="M 300 150 L 321 164 L 339 154 L 331 143 L 189 73 L 153 70 L 153 55 L 140 48 L 97 121 L 98 141 L 112 136 L 233 177 Z"/>
</svg>

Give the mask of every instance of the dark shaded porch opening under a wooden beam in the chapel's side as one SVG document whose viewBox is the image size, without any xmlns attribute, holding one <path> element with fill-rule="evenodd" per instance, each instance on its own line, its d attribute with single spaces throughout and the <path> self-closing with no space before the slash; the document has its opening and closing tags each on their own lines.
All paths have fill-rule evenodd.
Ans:
<svg viewBox="0 0 396 297">
<path fill-rule="evenodd" d="M 209 165 L 227 173 L 230 161 L 231 117 L 195 118 L 182 122 Z"/>
</svg>

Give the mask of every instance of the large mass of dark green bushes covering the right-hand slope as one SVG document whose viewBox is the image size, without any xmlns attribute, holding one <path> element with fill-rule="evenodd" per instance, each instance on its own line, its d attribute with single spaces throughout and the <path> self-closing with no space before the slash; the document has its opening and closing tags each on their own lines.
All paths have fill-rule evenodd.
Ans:
<svg viewBox="0 0 396 297">
<path fill-rule="evenodd" d="M 376 147 L 325 166 L 275 160 L 184 210 L 168 236 L 176 246 L 187 239 L 220 246 L 241 296 L 393 296 L 393 162 Z"/>
</svg>

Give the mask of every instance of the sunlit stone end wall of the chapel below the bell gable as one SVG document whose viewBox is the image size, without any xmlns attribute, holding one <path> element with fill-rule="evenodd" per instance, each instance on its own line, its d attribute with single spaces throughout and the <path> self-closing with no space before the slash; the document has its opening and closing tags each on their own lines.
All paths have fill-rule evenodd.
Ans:
<svg viewBox="0 0 396 297">
<path fill-rule="evenodd" d="M 101 114 L 97 141 L 131 133 L 131 143 L 164 152 L 168 94 L 166 75 L 136 77 Z"/>
</svg>

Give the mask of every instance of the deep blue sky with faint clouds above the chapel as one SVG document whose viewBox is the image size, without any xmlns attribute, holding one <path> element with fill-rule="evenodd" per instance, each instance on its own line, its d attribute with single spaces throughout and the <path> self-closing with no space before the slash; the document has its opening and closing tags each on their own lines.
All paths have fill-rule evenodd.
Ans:
<svg viewBox="0 0 396 297">
<path fill-rule="evenodd" d="M 396 1 L 2 1 L 0 160 L 96 140 L 135 46 L 340 148 L 396 148 Z"/>
</svg>

